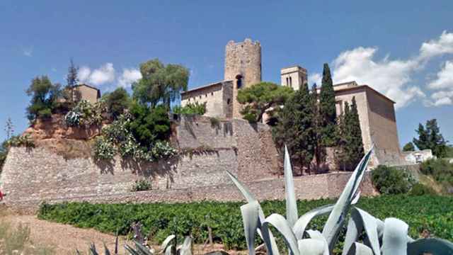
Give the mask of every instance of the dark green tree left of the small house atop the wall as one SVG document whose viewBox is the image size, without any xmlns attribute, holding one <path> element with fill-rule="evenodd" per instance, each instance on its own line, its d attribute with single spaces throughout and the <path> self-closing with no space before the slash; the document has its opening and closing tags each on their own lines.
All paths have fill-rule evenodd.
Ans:
<svg viewBox="0 0 453 255">
<path fill-rule="evenodd" d="M 27 118 L 30 121 L 36 118 L 49 118 L 55 108 L 57 98 L 62 91 L 59 84 L 52 84 L 47 76 L 35 77 L 28 89 L 28 96 L 31 96 L 30 105 L 27 108 Z"/>
</svg>

